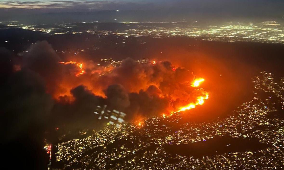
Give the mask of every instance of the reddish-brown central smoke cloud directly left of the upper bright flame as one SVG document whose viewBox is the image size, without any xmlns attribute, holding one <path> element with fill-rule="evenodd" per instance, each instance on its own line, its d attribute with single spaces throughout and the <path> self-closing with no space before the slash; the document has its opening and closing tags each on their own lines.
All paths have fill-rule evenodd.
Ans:
<svg viewBox="0 0 284 170">
<path fill-rule="evenodd" d="M 153 66 L 126 58 L 120 67 L 115 68 L 110 74 L 99 77 L 97 84 L 101 85 L 102 89 L 111 84 L 120 84 L 129 92 L 139 92 L 155 85 L 162 93 L 169 95 L 182 85 L 188 86 L 194 79 L 193 73 L 187 69 L 177 68 L 173 71 L 172 68 L 170 62 L 160 62 Z"/>
</svg>

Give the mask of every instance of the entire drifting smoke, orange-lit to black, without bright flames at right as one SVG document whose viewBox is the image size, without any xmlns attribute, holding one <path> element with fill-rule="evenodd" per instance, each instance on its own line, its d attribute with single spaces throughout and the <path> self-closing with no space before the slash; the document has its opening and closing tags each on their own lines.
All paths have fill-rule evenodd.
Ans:
<svg viewBox="0 0 284 170">
<path fill-rule="evenodd" d="M 78 64 L 62 61 L 46 41 L 34 43 L 27 51 L 16 57 L 6 50 L 5 70 L 12 73 L 2 75 L 9 80 L 3 86 L 26 101 L 23 106 L 17 104 L 19 101 L 11 102 L 11 107 L 30 110 L 38 104 L 35 108 L 42 108 L 40 113 L 56 127 L 99 127 L 94 117 L 98 105 L 125 112 L 127 121 L 137 121 L 168 115 L 208 95 L 204 89 L 191 86 L 195 79 L 192 72 L 167 61 L 126 58 L 119 66 L 100 66 L 90 61 Z M 5 107 L 10 109 L 9 105 Z M 39 115 L 32 119 L 37 118 L 45 119 Z"/>
</svg>

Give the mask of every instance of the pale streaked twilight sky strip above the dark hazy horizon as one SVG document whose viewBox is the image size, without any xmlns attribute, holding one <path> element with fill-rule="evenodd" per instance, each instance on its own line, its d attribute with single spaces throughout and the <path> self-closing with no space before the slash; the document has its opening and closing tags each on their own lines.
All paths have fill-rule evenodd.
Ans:
<svg viewBox="0 0 284 170">
<path fill-rule="evenodd" d="M 0 1 L 3 8 L 41 8 L 41 9 L 70 9 L 78 10 L 149 10 L 182 8 L 195 10 L 264 10 L 281 12 L 284 2 L 282 0 L 15 0 Z M 281 10 L 282 9 L 282 10 Z M 276 11 L 275 11 L 276 10 Z"/>
</svg>

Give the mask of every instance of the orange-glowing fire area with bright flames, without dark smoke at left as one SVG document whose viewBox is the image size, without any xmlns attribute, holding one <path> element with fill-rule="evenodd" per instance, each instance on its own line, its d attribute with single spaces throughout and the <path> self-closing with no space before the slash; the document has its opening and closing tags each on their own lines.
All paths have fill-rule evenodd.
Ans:
<svg viewBox="0 0 284 170">
<path fill-rule="evenodd" d="M 156 113 L 166 112 L 170 114 L 202 105 L 209 96 L 204 89 L 199 88 L 204 81 L 203 78 L 197 78 L 185 68 L 176 68 L 167 61 L 149 60 L 148 62 L 141 62 L 127 58 L 122 62 L 116 62 L 115 66 L 113 66 L 113 63 L 106 66 L 97 64 L 99 67 L 90 69 L 88 72 L 85 72 L 83 64 L 79 62 L 59 63 L 77 66 L 77 69 L 73 70 L 74 74 L 71 75 L 78 77 L 80 79 L 78 81 L 86 82 L 86 89 L 90 87 L 88 85 L 91 85 L 92 82 L 96 83 L 96 86 L 90 87 L 91 93 L 109 100 L 108 104 L 113 108 L 133 112 L 131 108 L 136 106 L 134 110 L 136 114 L 145 112 L 143 110 L 147 106 L 143 102 L 153 103 L 150 104 L 153 109 L 160 107 L 160 102 L 163 102 L 163 106 L 158 108 L 159 110 L 155 110 Z M 85 84 L 83 83 L 83 85 Z M 66 89 L 68 87 L 72 87 L 72 83 L 66 86 Z M 71 89 L 75 87 L 76 85 Z M 111 90 L 108 91 L 110 87 Z M 73 96 L 60 95 L 55 97 L 70 99 Z M 154 104 L 157 106 L 154 106 Z"/>
</svg>

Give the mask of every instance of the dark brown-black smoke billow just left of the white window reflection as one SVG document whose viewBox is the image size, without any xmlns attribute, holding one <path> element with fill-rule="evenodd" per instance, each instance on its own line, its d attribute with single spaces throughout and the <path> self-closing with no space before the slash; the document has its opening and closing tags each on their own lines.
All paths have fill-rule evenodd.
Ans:
<svg viewBox="0 0 284 170">
<path fill-rule="evenodd" d="M 71 90 L 73 102 L 65 102 L 67 96 L 57 101 L 52 111 L 52 128 L 66 128 L 70 131 L 101 126 L 94 111 L 98 105 L 105 104 L 105 99 L 95 96 L 87 87 L 80 85 Z"/>
</svg>

